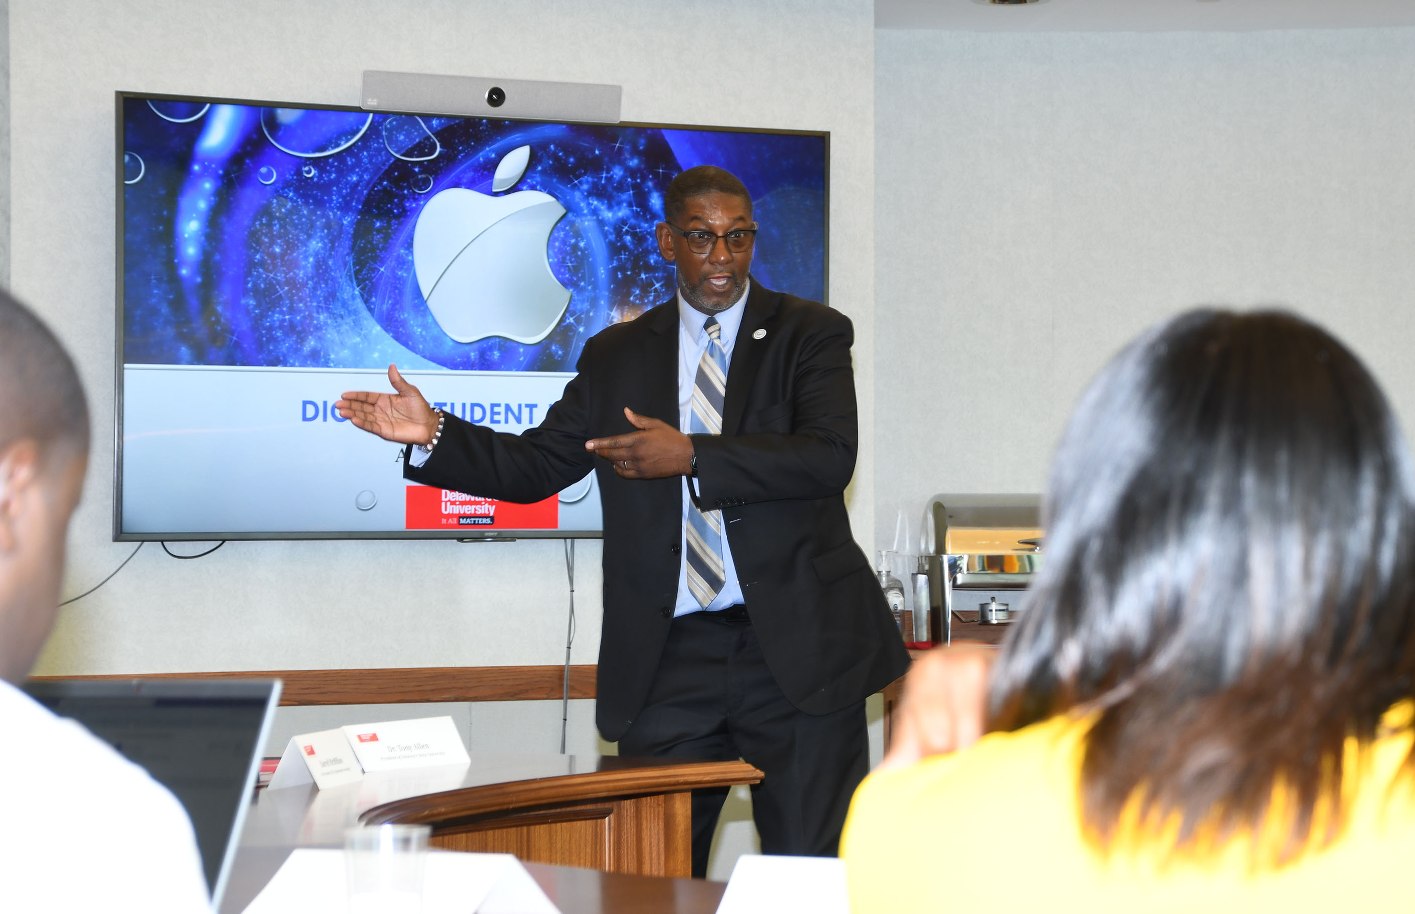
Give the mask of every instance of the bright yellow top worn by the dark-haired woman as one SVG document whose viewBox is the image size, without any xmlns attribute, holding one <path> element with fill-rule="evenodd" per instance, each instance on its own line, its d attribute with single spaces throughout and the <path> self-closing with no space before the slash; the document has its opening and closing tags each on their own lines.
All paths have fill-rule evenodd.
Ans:
<svg viewBox="0 0 1415 914">
<path fill-rule="evenodd" d="M 1254 867 L 1247 839 L 1163 864 L 1155 842 L 1116 840 L 1109 856 L 1081 835 L 1087 724 L 1054 717 L 992 733 L 972 748 L 872 774 L 845 823 L 841 856 L 852 914 L 910 911 L 1378 911 L 1415 910 L 1415 778 L 1409 707 L 1387 722 L 1343 778 L 1336 840 L 1283 867 Z M 1354 740 L 1347 758 L 1357 763 Z"/>
</svg>

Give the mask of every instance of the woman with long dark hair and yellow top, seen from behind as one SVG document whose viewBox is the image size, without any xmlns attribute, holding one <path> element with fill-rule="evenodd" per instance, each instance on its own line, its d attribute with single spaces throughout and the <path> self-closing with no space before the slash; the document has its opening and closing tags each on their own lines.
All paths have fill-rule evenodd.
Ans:
<svg viewBox="0 0 1415 914">
<path fill-rule="evenodd" d="M 856 792 L 855 914 L 1415 903 L 1391 879 L 1415 862 L 1412 505 L 1385 398 L 1323 330 L 1143 334 L 1063 436 L 1022 621 L 985 675 L 964 656 L 988 734 Z"/>
</svg>

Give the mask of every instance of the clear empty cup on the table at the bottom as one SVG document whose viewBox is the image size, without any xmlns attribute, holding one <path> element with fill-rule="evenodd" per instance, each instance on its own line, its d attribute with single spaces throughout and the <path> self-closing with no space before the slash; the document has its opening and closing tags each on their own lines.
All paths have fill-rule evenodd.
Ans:
<svg viewBox="0 0 1415 914">
<path fill-rule="evenodd" d="M 350 914 L 419 914 L 430 825 L 344 829 Z"/>
</svg>

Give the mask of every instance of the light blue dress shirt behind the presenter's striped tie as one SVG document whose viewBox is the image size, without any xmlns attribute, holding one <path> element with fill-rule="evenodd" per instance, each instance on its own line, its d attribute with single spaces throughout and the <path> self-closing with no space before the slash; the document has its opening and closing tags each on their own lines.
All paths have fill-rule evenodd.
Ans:
<svg viewBox="0 0 1415 914">
<path fill-rule="evenodd" d="M 717 324 L 722 325 L 717 340 L 727 354 L 729 372 L 732 371 L 732 351 L 737 345 L 737 328 L 741 327 L 741 314 L 747 310 L 747 294 L 750 291 L 751 280 L 747 280 L 746 287 L 741 290 L 741 297 L 726 311 L 717 311 Z M 708 334 L 703 332 L 703 324 L 706 323 L 708 316 L 683 301 L 683 293 L 678 293 L 678 430 L 683 434 L 692 427 L 688 422 L 693 412 L 693 383 L 698 381 L 698 362 L 702 361 L 703 352 L 708 349 Z M 675 618 L 703 610 L 698 603 L 698 597 L 688 590 L 688 512 L 698 511 L 688 497 L 689 485 L 695 487 L 693 491 L 699 491 L 696 490 L 698 480 L 683 477 L 683 523 L 681 525 L 683 542 L 679 543 L 681 548 L 678 550 L 682 560 L 678 565 L 678 603 L 674 606 Z M 732 546 L 727 545 L 726 523 L 723 523 L 722 531 L 722 590 L 708 604 L 709 611 L 726 610 L 729 606 L 741 603 L 741 584 L 737 582 L 737 566 L 732 560 Z"/>
</svg>

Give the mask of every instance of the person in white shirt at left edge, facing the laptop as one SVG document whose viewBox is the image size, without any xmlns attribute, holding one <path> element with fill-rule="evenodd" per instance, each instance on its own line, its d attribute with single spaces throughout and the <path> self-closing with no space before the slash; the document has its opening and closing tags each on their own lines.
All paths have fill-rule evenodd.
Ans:
<svg viewBox="0 0 1415 914">
<path fill-rule="evenodd" d="M 88 443 L 74 362 L 0 291 L 0 910 L 209 911 L 177 798 L 16 688 L 58 613 Z"/>
</svg>

